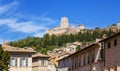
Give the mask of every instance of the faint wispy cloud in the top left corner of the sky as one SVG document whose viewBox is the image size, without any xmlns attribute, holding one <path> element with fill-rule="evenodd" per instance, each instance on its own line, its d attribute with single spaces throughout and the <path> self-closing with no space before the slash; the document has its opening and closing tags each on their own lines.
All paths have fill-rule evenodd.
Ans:
<svg viewBox="0 0 120 71">
<path fill-rule="evenodd" d="M 9 13 L 12 11 L 16 6 L 18 5 L 18 2 L 13 1 L 12 3 L 0 5 L 0 14 Z M 9 12 L 8 12 L 9 11 Z"/>
</svg>

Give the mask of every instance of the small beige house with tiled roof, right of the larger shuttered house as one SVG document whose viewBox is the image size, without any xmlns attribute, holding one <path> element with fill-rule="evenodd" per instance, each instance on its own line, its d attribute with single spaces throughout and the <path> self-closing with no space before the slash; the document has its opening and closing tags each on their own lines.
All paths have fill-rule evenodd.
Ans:
<svg viewBox="0 0 120 71">
<path fill-rule="evenodd" d="M 32 71 L 48 71 L 48 55 L 36 53 L 32 55 Z"/>
</svg>

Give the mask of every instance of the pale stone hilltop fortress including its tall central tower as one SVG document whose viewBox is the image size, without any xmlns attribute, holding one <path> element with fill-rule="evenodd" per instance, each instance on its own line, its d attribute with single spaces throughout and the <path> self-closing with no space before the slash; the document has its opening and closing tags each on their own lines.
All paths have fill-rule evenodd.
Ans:
<svg viewBox="0 0 120 71">
<path fill-rule="evenodd" d="M 60 26 L 55 27 L 53 29 L 46 29 L 46 34 L 49 35 L 62 35 L 62 34 L 76 34 L 82 30 L 84 30 L 83 25 L 78 25 L 77 28 L 75 28 L 74 25 L 69 26 L 68 18 L 67 17 L 62 17 Z"/>
</svg>

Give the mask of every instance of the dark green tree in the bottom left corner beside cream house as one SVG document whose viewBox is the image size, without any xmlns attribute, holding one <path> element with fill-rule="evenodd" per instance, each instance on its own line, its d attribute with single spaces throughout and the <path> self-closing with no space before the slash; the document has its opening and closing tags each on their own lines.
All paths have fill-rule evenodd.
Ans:
<svg viewBox="0 0 120 71">
<path fill-rule="evenodd" d="M 9 71 L 10 57 L 7 51 L 3 51 L 0 45 L 0 71 Z"/>
</svg>

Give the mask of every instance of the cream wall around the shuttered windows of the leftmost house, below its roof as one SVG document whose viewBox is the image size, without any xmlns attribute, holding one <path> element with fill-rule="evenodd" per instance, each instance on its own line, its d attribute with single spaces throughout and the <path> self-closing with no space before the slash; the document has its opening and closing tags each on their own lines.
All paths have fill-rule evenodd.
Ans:
<svg viewBox="0 0 120 71">
<path fill-rule="evenodd" d="M 15 58 L 17 61 L 15 62 L 15 66 L 10 65 L 9 71 L 32 71 L 32 57 L 30 54 L 25 53 L 14 53 L 10 54 L 10 58 Z M 28 59 L 27 66 L 20 66 L 20 59 L 25 58 Z M 26 61 L 24 62 L 26 64 Z"/>
</svg>

